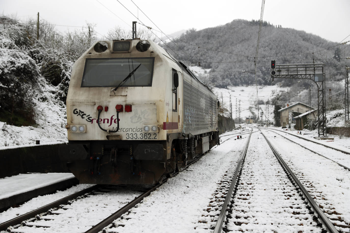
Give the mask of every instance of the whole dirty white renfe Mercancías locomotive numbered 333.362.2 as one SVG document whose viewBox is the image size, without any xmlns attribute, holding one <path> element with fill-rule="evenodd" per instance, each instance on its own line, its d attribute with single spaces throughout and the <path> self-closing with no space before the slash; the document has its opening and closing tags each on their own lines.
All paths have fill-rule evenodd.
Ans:
<svg viewBox="0 0 350 233">
<path fill-rule="evenodd" d="M 59 155 L 80 183 L 157 183 L 219 142 L 217 104 L 156 43 L 98 42 L 73 66 Z"/>
</svg>

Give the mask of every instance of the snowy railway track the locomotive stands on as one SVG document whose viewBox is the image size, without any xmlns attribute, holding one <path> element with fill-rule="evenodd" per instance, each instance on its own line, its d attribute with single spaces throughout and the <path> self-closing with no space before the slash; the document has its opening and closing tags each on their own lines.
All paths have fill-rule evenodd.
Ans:
<svg viewBox="0 0 350 233">
<path fill-rule="evenodd" d="M 188 164 L 187 168 L 198 161 L 201 157 L 196 158 L 194 161 Z M 179 172 L 172 174 L 172 177 L 177 175 Z M 84 231 L 79 231 L 73 229 L 75 232 L 85 232 L 85 233 L 97 233 L 100 231 L 106 232 L 104 228 L 111 224 L 115 219 L 119 218 L 122 214 L 126 213 L 132 207 L 137 205 L 142 201 L 142 199 L 152 191 L 159 188 L 167 179 L 164 179 L 158 185 L 94 185 L 90 188 L 76 192 L 75 194 L 61 198 L 55 202 L 52 202 L 48 205 L 42 206 L 36 210 L 30 211 L 26 214 L 22 214 L 14 219 L 8 220 L 0 224 L 0 232 L 40 232 L 49 231 L 52 228 L 51 232 L 66 232 L 66 226 L 69 225 L 69 221 L 62 223 L 62 219 L 71 219 L 70 215 L 74 212 L 79 212 L 78 209 L 81 209 L 85 203 L 96 203 L 97 207 L 92 207 L 91 210 L 87 212 L 99 212 L 99 214 L 87 214 L 90 216 L 78 216 L 76 220 L 81 219 L 95 219 L 92 222 L 82 222 L 81 229 L 86 228 Z M 152 186 L 148 188 L 143 193 L 138 191 L 140 188 L 145 189 L 144 187 Z M 124 188 L 123 188 L 124 187 Z M 127 192 L 126 187 L 135 187 Z M 118 193 L 121 193 L 120 195 Z M 135 193 L 138 195 L 135 196 Z M 102 196 L 102 197 L 101 197 Z M 89 201 L 89 199 L 99 199 L 98 202 L 95 200 Z M 109 211 L 97 211 L 98 209 L 107 209 L 107 206 L 111 205 Z M 116 208 L 117 206 L 117 208 Z M 87 207 L 90 208 L 91 206 Z M 118 209 L 117 211 L 115 211 Z M 115 211 L 115 212 L 114 212 Z M 111 212 L 109 216 L 104 219 L 101 219 L 102 216 L 106 216 L 105 212 Z M 62 217 L 66 215 L 67 217 Z M 95 217 L 94 217 L 94 216 Z M 100 219 L 99 222 L 96 222 L 96 219 Z M 94 224 L 96 223 L 96 224 Z M 93 225 L 94 224 L 94 225 Z M 62 227 L 65 225 L 65 227 Z M 62 230 L 59 228 L 62 227 Z M 90 228 L 89 228 L 90 227 Z M 111 224 L 110 227 L 113 227 Z M 41 229 L 41 230 L 40 230 Z"/>
</svg>

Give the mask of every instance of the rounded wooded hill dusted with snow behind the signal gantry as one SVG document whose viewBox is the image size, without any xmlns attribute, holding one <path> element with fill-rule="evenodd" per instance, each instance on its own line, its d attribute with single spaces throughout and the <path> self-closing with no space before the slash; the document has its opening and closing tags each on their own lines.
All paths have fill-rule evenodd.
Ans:
<svg viewBox="0 0 350 233">
<path fill-rule="evenodd" d="M 254 57 L 257 49 L 259 21 L 234 20 L 223 26 L 186 34 L 164 45 L 175 57 L 189 65 L 211 69 L 206 81 L 216 87 L 255 85 Z M 343 39 L 343 38 L 341 38 Z M 264 22 L 256 61 L 258 85 L 269 85 L 271 59 L 276 64 L 325 63 L 327 80 L 344 79 L 347 45 L 338 45 L 319 36 L 282 28 Z M 199 47 L 199 48 L 198 48 Z M 246 71 L 243 73 L 242 71 Z M 289 85 L 295 80 L 279 80 Z M 276 82 L 274 82 L 276 83 Z"/>
</svg>

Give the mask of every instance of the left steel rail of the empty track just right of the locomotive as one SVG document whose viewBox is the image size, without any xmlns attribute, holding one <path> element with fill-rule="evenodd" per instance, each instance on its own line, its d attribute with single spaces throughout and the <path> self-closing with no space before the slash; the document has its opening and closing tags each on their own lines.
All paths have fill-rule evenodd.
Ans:
<svg viewBox="0 0 350 233">
<path fill-rule="evenodd" d="M 252 132 L 253 130 L 250 131 L 250 134 L 249 134 L 249 138 L 247 140 L 247 143 L 246 145 L 244 146 L 244 149 L 242 151 L 242 154 L 239 158 L 239 162 L 238 162 L 238 165 L 237 165 L 237 168 L 236 168 L 236 172 L 235 172 L 235 175 L 233 175 L 233 178 L 232 178 L 232 181 L 231 181 L 231 185 L 230 185 L 230 188 L 229 188 L 229 191 L 228 193 L 226 194 L 226 198 L 225 198 L 225 201 L 224 201 L 224 204 L 222 206 L 222 209 L 220 211 L 220 214 L 219 214 L 219 217 L 218 217 L 218 220 L 216 222 L 216 225 L 215 225 L 215 228 L 214 228 L 214 231 L 213 233 L 219 233 L 221 232 L 222 230 L 222 224 L 225 220 L 225 216 L 226 216 L 226 209 L 227 209 L 227 206 L 229 205 L 230 201 L 231 201 L 231 196 L 232 196 L 232 192 L 235 188 L 235 184 L 236 184 L 236 181 L 237 181 L 237 177 L 238 177 L 238 173 L 241 169 L 241 165 L 243 163 L 243 160 L 245 158 L 245 155 L 247 153 L 247 149 L 248 149 L 248 144 L 249 144 L 249 141 L 250 141 L 250 137 L 252 135 Z"/>
</svg>

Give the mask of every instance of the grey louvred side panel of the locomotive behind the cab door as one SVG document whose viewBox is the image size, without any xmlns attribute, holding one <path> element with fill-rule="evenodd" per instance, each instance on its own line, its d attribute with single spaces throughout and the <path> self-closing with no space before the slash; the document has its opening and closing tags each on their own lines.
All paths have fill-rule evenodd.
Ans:
<svg viewBox="0 0 350 233">
<path fill-rule="evenodd" d="M 200 134 L 211 131 L 211 97 L 184 80 L 183 99 L 184 133 Z"/>
</svg>

